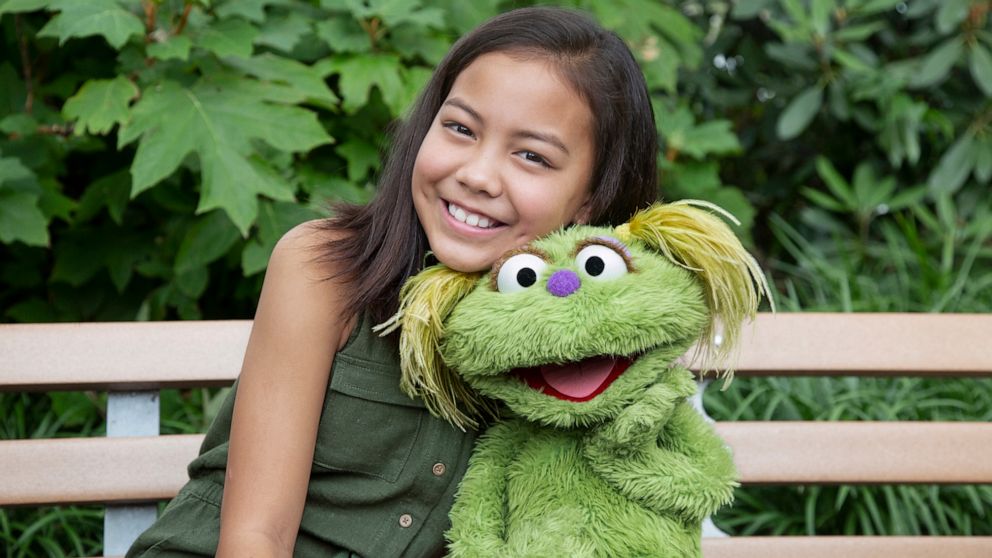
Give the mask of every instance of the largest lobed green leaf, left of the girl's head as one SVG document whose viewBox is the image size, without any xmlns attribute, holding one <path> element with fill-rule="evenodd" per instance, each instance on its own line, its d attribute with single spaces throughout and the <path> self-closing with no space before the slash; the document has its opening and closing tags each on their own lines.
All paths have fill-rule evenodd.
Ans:
<svg viewBox="0 0 992 558">
<path fill-rule="evenodd" d="M 172 174 L 196 153 L 202 169 L 199 212 L 223 208 L 242 234 L 255 220 L 255 196 L 293 199 L 292 188 L 259 160 L 250 160 L 251 141 L 283 151 L 307 151 L 331 141 L 307 110 L 232 95 L 208 85 L 191 89 L 166 82 L 150 90 L 120 134 L 125 145 L 141 137 L 131 166 L 136 196 Z"/>
</svg>

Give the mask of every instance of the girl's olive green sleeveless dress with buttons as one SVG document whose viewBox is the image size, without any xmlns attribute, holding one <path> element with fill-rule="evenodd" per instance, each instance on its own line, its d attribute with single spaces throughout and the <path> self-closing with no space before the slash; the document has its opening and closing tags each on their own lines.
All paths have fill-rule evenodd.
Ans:
<svg viewBox="0 0 992 558">
<path fill-rule="evenodd" d="M 213 556 L 231 391 L 189 465 L 190 481 L 127 556 Z M 399 389 L 396 343 L 359 320 L 334 356 L 295 556 L 438 556 L 475 440 Z"/>
</svg>

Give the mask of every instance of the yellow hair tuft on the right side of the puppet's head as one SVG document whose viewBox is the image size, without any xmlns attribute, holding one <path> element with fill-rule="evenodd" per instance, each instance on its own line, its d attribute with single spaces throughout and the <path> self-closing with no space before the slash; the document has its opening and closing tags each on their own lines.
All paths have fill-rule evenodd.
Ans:
<svg viewBox="0 0 992 558">
<path fill-rule="evenodd" d="M 704 372 L 723 370 L 730 378 L 744 320 L 754 317 L 762 295 L 773 311 L 775 303 L 754 257 L 714 213 L 740 224 L 717 205 L 681 200 L 639 211 L 630 222 L 617 227 L 616 234 L 621 239 L 637 238 L 699 275 L 712 318 L 697 346 L 697 356 L 707 367 Z M 717 339 L 718 324 L 723 325 L 721 339 Z"/>
</svg>

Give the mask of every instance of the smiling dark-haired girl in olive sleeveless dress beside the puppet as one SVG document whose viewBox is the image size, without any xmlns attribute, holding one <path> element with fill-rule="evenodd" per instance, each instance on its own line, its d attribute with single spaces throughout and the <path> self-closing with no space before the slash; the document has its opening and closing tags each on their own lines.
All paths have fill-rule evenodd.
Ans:
<svg viewBox="0 0 992 558">
<path fill-rule="evenodd" d="M 128 556 L 442 553 L 476 433 L 400 391 L 395 336 L 371 327 L 428 250 L 485 270 L 570 223 L 627 220 L 655 198 L 656 152 L 640 70 L 588 18 L 521 9 L 459 40 L 376 198 L 276 246 L 236 389 Z"/>
</svg>

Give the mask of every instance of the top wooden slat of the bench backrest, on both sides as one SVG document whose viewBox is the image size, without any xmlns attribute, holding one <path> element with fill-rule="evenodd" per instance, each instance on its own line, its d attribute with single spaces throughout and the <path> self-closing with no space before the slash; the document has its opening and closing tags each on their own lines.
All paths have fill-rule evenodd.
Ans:
<svg viewBox="0 0 992 558">
<path fill-rule="evenodd" d="M 0 325 L 0 391 L 230 384 L 248 320 Z M 760 314 L 738 376 L 992 377 L 992 314 Z"/>
</svg>

